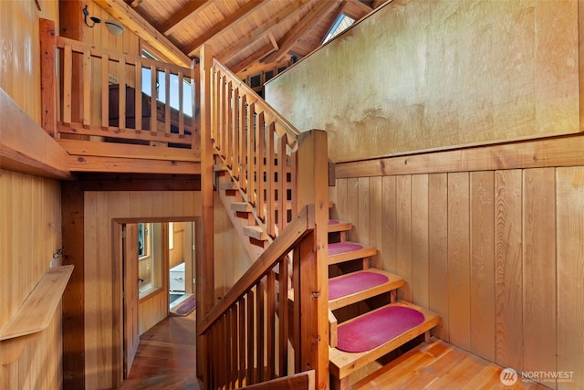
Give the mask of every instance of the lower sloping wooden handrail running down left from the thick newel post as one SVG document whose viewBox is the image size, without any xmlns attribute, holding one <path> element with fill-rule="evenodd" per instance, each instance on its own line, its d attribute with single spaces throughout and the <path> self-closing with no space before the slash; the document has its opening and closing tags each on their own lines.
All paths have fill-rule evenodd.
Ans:
<svg viewBox="0 0 584 390">
<path fill-rule="evenodd" d="M 215 321 L 224 315 L 225 311 L 233 307 L 241 299 L 250 286 L 254 286 L 260 279 L 273 269 L 277 262 L 287 255 L 290 249 L 294 248 L 297 242 L 314 229 L 314 206 L 306 206 L 298 214 L 287 228 L 280 233 L 276 240 L 270 245 L 262 255 L 255 260 L 255 263 L 247 269 L 244 276 L 237 280 L 235 286 L 225 294 L 223 300 L 217 303 L 209 311 L 198 325 L 198 334 L 202 335 L 209 330 Z"/>
</svg>

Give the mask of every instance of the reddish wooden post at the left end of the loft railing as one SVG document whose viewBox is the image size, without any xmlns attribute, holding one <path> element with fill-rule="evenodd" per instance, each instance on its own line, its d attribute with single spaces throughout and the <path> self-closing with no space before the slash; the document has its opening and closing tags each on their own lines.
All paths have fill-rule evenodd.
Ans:
<svg viewBox="0 0 584 390">
<path fill-rule="evenodd" d="M 55 75 L 55 22 L 40 19 L 40 104 L 42 126 L 57 135 L 57 76 Z"/>
</svg>

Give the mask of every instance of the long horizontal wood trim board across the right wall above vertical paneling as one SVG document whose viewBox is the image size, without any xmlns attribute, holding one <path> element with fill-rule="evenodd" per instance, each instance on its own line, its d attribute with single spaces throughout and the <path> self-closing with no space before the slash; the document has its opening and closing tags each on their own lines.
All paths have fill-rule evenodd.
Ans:
<svg viewBox="0 0 584 390">
<path fill-rule="evenodd" d="M 337 163 L 337 178 L 584 165 L 584 135 Z"/>
</svg>

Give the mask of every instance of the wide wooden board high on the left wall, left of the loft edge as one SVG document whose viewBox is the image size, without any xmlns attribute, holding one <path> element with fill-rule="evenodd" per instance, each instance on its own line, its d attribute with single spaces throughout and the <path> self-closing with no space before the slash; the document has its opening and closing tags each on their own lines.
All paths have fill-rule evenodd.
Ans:
<svg viewBox="0 0 584 390">
<path fill-rule="evenodd" d="M 0 166 L 70 179 L 68 153 L 0 89 Z"/>
</svg>

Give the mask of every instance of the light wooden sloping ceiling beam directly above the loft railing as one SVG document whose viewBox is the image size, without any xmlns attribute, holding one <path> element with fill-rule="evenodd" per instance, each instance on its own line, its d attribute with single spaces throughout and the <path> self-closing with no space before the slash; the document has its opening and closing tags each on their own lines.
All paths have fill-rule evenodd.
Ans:
<svg viewBox="0 0 584 390">
<path fill-rule="evenodd" d="M 164 37 L 123 0 L 94 0 L 94 2 L 119 20 L 122 25 L 132 30 L 138 37 L 141 37 L 151 47 L 158 50 L 164 57 L 185 68 L 191 67 L 191 58 L 185 56 L 167 37 Z"/>
</svg>

